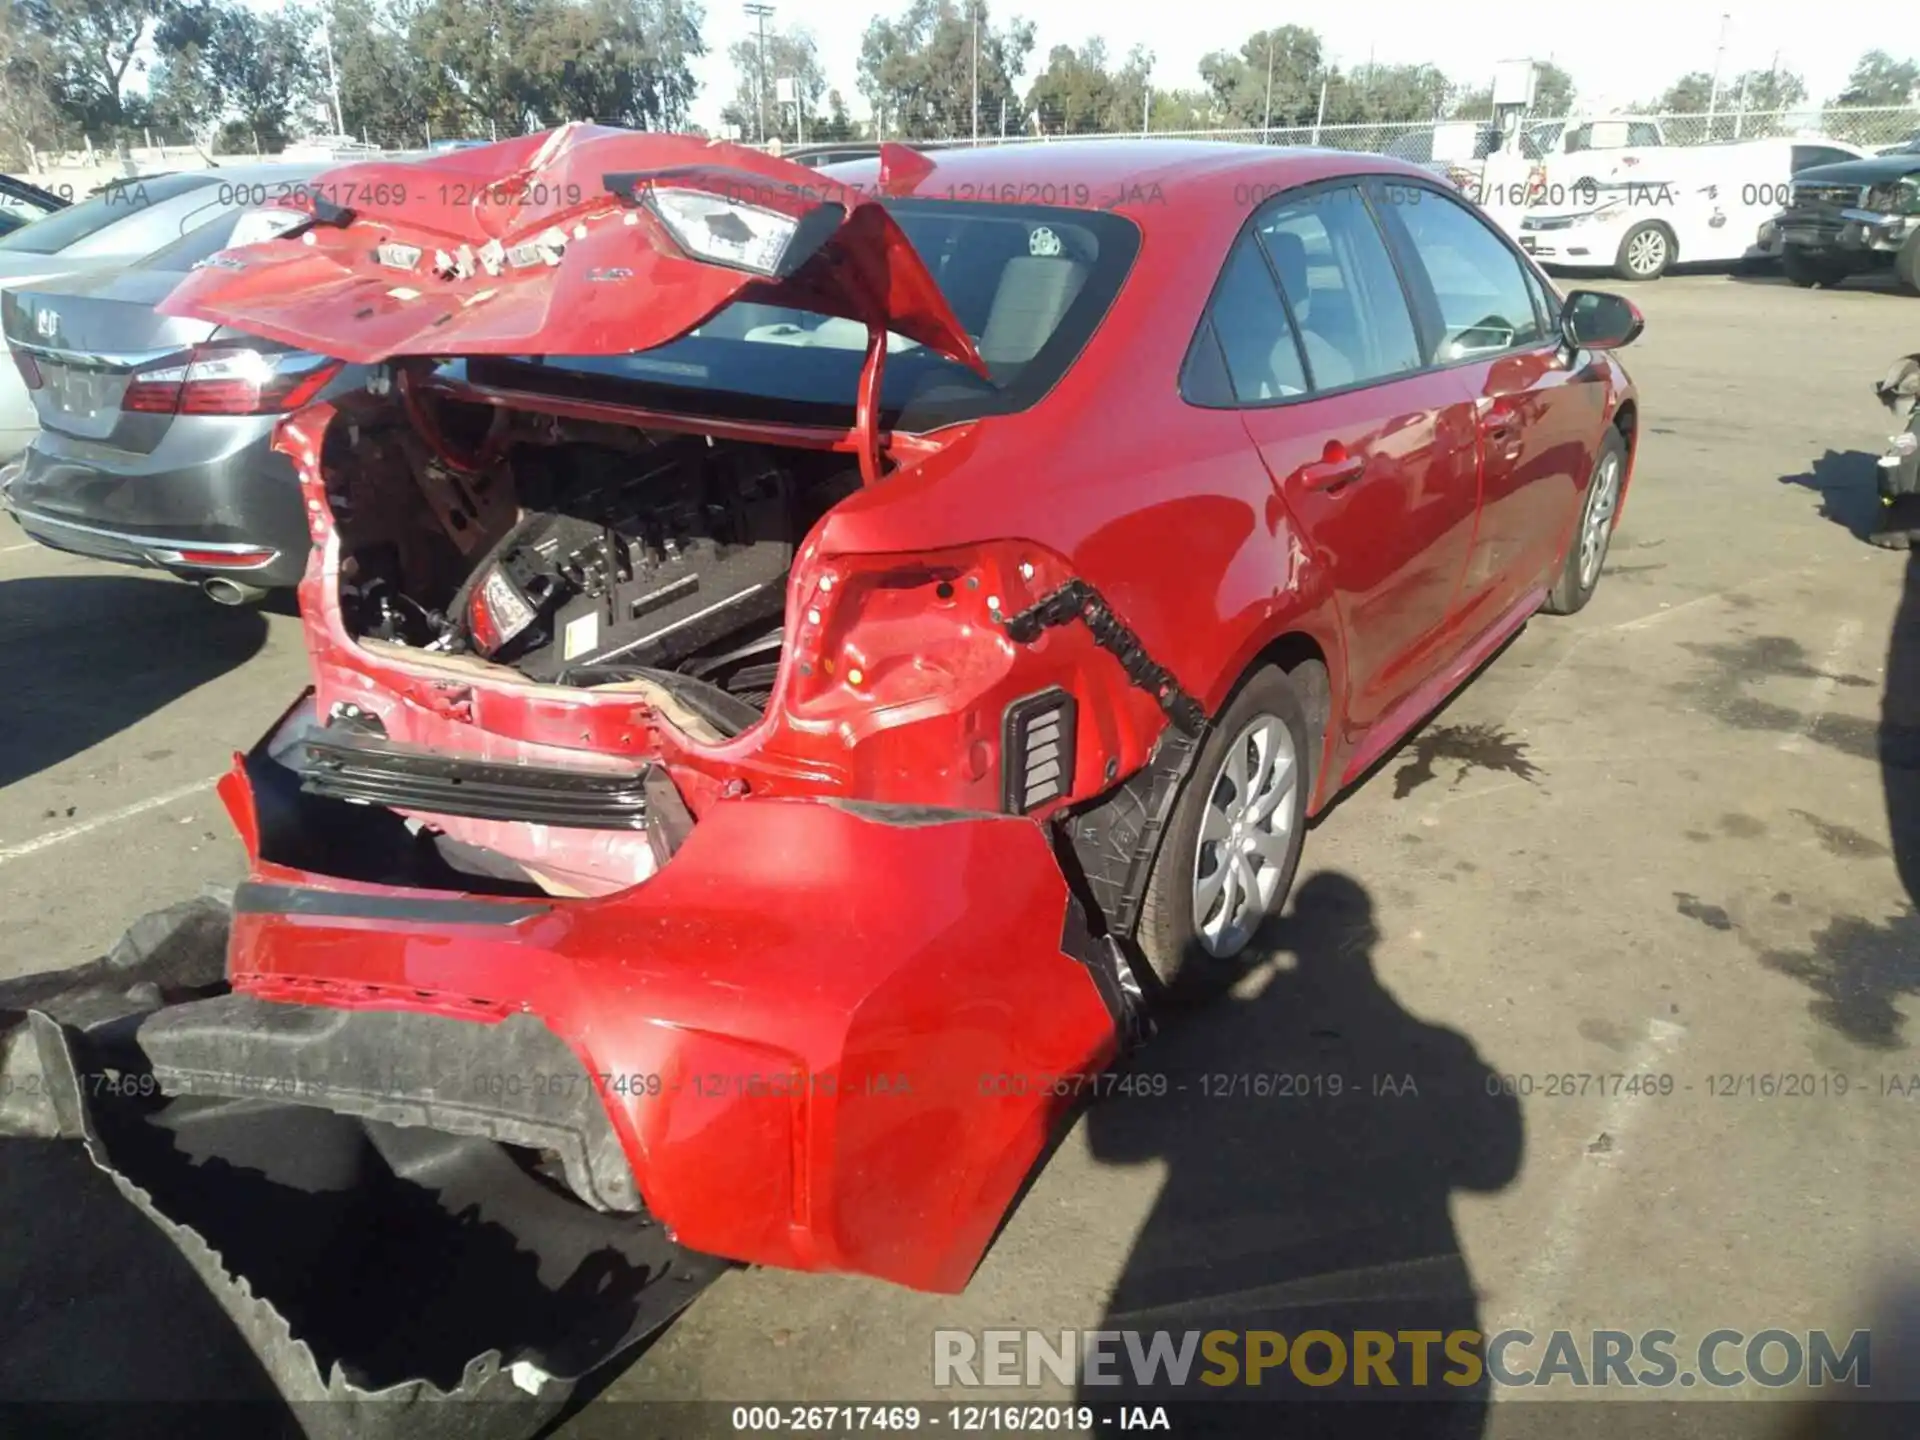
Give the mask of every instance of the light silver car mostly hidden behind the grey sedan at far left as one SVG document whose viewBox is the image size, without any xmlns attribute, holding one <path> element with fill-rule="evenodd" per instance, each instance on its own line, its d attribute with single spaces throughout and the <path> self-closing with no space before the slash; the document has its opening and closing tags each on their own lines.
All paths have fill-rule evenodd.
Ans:
<svg viewBox="0 0 1920 1440">
<path fill-rule="evenodd" d="M 244 196 L 273 198 L 290 175 L 284 165 L 173 171 L 113 180 L 56 213 L 0 236 L 0 290 L 131 265 L 188 230 L 230 213 Z M 0 461 L 15 459 L 38 430 L 27 388 L 0 365 Z"/>
</svg>

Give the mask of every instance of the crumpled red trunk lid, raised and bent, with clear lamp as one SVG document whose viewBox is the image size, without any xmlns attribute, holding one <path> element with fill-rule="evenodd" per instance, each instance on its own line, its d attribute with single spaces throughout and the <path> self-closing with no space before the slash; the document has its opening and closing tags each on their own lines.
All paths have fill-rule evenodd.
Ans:
<svg viewBox="0 0 1920 1440">
<path fill-rule="evenodd" d="M 660 192 L 720 202 L 697 223 L 724 242 L 797 227 L 772 265 L 701 259 L 649 204 Z M 745 296 L 881 326 L 985 374 L 876 196 L 743 146 L 566 125 L 346 165 L 276 204 L 315 223 L 223 252 L 159 311 L 371 365 L 651 349 Z"/>
</svg>

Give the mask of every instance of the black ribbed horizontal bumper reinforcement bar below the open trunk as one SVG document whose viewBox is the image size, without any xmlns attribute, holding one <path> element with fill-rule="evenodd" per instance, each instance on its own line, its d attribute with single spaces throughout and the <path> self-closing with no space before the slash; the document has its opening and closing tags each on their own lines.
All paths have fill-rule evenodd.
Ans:
<svg viewBox="0 0 1920 1440">
<path fill-rule="evenodd" d="M 432 751 L 319 732 L 305 739 L 301 789 L 397 810 L 526 820 L 578 829 L 645 829 L 647 772 L 461 760 Z"/>
</svg>

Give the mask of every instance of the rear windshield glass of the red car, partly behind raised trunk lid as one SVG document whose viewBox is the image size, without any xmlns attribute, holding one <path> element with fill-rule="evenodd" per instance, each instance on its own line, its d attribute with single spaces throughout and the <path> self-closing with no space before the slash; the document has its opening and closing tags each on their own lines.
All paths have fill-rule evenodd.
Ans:
<svg viewBox="0 0 1920 1440">
<path fill-rule="evenodd" d="M 1079 357 L 1140 244 L 1139 228 L 1108 211 L 954 200 L 895 200 L 887 209 L 991 376 L 891 336 L 881 411 L 904 430 L 1033 405 Z M 866 326 L 854 321 L 735 301 L 655 349 L 547 357 L 541 369 L 549 376 L 564 371 L 570 394 L 580 394 L 586 380 L 586 388 L 609 397 L 624 390 L 636 403 L 839 422 L 852 405 L 864 359 Z M 530 365 L 472 359 L 467 372 L 474 380 L 547 388 L 551 380 L 530 374 Z"/>
</svg>

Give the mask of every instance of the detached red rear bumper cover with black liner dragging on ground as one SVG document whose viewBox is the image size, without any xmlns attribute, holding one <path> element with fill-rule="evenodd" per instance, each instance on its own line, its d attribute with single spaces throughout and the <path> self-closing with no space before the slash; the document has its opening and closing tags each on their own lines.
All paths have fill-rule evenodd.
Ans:
<svg viewBox="0 0 1920 1440">
<path fill-rule="evenodd" d="M 728 801 L 574 900 L 265 749 L 221 793 L 190 945 L 0 987 L 0 1135 L 83 1140 L 313 1434 L 526 1434 L 732 1261 L 962 1288 L 1129 1014 L 1027 820 Z"/>
</svg>

